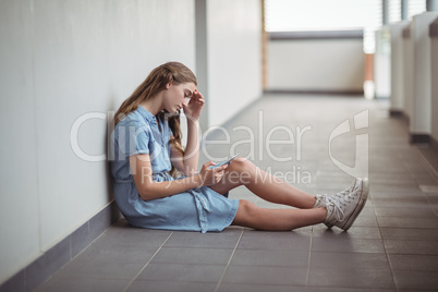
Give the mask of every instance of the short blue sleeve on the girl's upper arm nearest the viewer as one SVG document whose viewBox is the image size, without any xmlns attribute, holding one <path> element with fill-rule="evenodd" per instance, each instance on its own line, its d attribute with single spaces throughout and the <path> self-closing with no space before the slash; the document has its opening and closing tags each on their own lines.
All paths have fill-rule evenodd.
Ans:
<svg viewBox="0 0 438 292">
<path fill-rule="evenodd" d="M 119 126 L 118 139 L 120 151 L 125 156 L 149 154 L 150 126 L 131 121 Z"/>
</svg>

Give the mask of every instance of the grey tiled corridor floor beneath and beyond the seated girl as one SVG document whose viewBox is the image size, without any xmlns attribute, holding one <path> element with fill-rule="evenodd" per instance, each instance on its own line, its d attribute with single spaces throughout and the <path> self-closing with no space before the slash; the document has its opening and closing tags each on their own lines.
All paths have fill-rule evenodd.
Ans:
<svg viewBox="0 0 438 292">
<path fill-rule="evenodd" d="M 370 198 L 349 232 L 319 224 L 200 234 L 142 230 L 120 220 L 39 291 L 437 291 L 438 182 L 403 125 L 388 117 L 386 101 L 267 96 L 227 124 L 230 144 L 208 145 L 203 161 L 234 151 L 264 170 L 287 173 L 307 192 L 333 193 L 351 177 L 330 159 L 330 133 L 348 119 L 354 130 L 353 117 L 364 110 L 369 124 L 331 142 L 332 157 L 353 168 L 355 134 L 368 134 L 368 146 L 360 146 L 369 149 L 363 158 L 369 162 Z M 291 133 L 293 144 L 266 150 L 269 135 L 291 141 Z M 284 208 L 243 187 L 230 197 Z"/>
</svg>

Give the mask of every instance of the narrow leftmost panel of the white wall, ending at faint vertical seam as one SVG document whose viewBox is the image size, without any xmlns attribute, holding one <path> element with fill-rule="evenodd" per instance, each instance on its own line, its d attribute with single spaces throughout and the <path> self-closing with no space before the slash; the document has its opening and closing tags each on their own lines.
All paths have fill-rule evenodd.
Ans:
<svg viewBox="0 0 438 292">
<path fill-rule="evenodd" d="M 40 252 L 31 16 L 0 1 L 0 282 Z"/>
</svg>

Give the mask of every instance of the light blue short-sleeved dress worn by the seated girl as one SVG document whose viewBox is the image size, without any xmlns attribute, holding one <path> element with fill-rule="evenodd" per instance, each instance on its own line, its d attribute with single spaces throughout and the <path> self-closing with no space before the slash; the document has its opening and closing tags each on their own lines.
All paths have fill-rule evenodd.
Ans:
<svg viewBox="0 0 438 292">
<path fill-rule="evenodd" d="M 229 199 L 207 186 L 151 200 L 139 197 L 129 156 L 149 154 L 154 181 L 173 180 L 168 173 L 171 135 L 168 122 L 157 119 L 142 106 L 115 125 L 111 135 L 114 156 L 110 166 L 120 211 L 130 224 L 141 228 L 222 231 L 234 220 L 239 200 Z"/>
</svg>

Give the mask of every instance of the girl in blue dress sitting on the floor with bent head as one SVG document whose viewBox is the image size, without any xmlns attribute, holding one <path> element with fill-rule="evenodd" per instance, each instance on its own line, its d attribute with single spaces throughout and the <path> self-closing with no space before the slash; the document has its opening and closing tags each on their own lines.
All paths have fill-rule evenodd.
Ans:
<svg viewBox="0 0 438 292">
<path fill-rule="evenodd" d="M 197 172 L 198 118 L 205 99 L 196 86 L 195 75 L 185 65 L 162 64 L 115 113 L 111 137 L 114 197 L 132 226 L 207 232 L 230 224 L 272 231 L 321 222 L 346 231 L 353 224 L 368 196 L 366 179 L 354 180 L 336 195 L 313 196 L 242 158 L 216 168 L 209 161 Z M 185 149 L 178 115 L 181 109 L 187 117 Z M 175 171 L 182 175 L 174 179 L 170 173 Z M 229 199 L 228 192 L 240 185 L 268 202 L 297 209 L 265 209 Z"/>
</svg>

